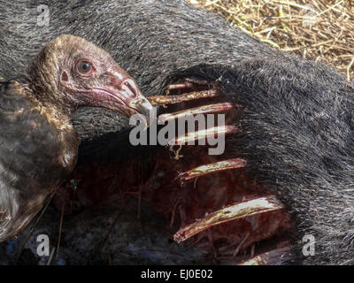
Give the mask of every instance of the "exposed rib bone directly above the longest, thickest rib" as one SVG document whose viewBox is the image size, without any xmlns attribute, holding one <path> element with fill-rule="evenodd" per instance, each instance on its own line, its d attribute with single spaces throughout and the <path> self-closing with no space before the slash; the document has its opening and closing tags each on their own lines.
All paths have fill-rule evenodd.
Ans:
<svg viewBox="0 0 354 283">
<path fill-rule="evenodd" d="M 240 158 L 228 159 L 228 160 L 223 160 L 212 164 L 202 165 L 192 170 L 189 170 L 187 172 L 182 172 L 178 177 L 181 179 L 181 181 L 186 181 L 213 172 L 220 172 L 220 171 L 225 171 L 230 169 L 242 168 L 245 165 L 246 165 L 246 161 L 243 159 Z"/>
</svg>

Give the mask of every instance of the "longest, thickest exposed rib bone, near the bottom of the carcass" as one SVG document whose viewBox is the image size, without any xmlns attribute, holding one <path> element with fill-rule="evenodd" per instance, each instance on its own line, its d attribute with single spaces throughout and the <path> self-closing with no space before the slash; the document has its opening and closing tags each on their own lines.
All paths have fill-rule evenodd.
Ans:
<svg viewBox="0 0 354 283">
<path fill-rule="evenodd" d="M 267 211 L 281 210 L 282 208 L 282 204 L 274 196 L 260 197 L 248 202 L 236 203 L 212 212 L 202 220 L 181 228 L 174 234 L 173 239 L 177 242 L 186 241 L 196 233 L 201 233 L 212 226 Z"/>
</svg>

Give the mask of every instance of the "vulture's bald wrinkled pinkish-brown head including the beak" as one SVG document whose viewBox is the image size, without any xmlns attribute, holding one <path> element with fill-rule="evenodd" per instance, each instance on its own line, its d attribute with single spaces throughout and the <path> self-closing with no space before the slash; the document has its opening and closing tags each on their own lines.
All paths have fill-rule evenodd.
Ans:
<svg viewBox="0 0 354 283">
<path fill-rule="evenodd" d="M 135 80 L 109 53 L 78 36 L 62 35 L 45 45 L 28 76 L 40 101 L 71 112 L 92 106 L 148 117 L 152 109 Z"/>
</svg>

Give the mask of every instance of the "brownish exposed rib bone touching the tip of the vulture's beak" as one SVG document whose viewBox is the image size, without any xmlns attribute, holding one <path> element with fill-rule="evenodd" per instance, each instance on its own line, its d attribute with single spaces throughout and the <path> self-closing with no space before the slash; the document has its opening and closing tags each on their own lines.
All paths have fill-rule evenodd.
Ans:
<svg viewBox="0 0 354 283">
<path fill-rule="evenodd" d="M 181 96 L 150 96 L 148 100 L 153 106 L 165 105 L 165 104 L 174 104 L 181 103 L 184 101 L 190 101 L 205 97 L 214 97 L 218 96 L 218 92 L 215 89 L 203 90 L 203 91 L 194 91 L 189 92 Z"/>
</svg>

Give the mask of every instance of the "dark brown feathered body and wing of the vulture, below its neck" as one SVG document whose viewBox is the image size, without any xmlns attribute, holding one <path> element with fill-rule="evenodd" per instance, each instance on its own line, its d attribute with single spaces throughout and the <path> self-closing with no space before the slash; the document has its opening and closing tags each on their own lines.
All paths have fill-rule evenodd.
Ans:
<svg viewBox="0 0 354 283">
<path fill-rule="evenodd" d="M 15 80 L 0 82 L 0 133 L 0 241 L 4 241 L 26 226 L 65 180 L 73 164 L 65 164 L 63 157 L 77 150 L 78 141 L 59 131 Z"/>
</svg>

